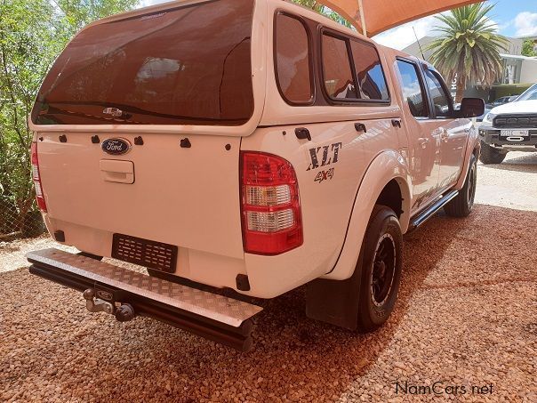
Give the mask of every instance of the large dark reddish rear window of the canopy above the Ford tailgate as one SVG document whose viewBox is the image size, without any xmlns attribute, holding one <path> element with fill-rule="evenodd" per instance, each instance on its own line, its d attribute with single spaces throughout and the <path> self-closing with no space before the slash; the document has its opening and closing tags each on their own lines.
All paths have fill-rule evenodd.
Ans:
<svg viewBox="0 0 537 403">
<path fill-rule="evenodd" d="M 244 125 L 253 113 L 254 0 L 214 0 L 100 23 L 60 54 L 36 125 Z"/>
</svg>

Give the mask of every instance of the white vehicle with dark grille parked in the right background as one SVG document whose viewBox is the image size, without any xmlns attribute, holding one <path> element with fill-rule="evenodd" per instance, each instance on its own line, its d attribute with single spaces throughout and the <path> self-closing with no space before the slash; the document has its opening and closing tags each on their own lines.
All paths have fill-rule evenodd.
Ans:
<svg viewBox="0 0 537 403">
<path fill-rule="evenodd" d="M 537 151 L 537 84 L 486 114 L 479 137 L 483 164 L 500 164 L 509 151 Z"/>
</svg>

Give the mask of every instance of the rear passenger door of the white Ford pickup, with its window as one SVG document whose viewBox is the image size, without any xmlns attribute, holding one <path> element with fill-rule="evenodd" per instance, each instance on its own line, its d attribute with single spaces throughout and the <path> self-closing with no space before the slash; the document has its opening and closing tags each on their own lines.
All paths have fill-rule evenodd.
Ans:
<svg viewBox="0 0 537 403">
<path fill-rule="evenodd" d="M 411 214 L 415 214 L 438 194 L 440 132 L 437 121 L 430 118 L 428 92 L 418 63 L 397 58 L 397 70 L 405 101 L 404 125 L 414 196 Z"/>
</svg>

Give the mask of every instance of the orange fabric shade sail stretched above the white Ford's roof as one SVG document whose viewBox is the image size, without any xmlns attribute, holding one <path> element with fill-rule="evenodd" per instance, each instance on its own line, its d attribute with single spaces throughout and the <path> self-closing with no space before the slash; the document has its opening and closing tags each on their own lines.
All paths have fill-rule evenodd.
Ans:
<svg viewBox="0 0 537 403">
<path fill-rule="evenodd" d="M 358 32 L 364 31 L 360 22 L 359 0 L 317 1 L 349 20 Z M 367 36 L 380 34 L 405 22 L 479 1 L 483 0 L 362 0 Z"/>
</svg>

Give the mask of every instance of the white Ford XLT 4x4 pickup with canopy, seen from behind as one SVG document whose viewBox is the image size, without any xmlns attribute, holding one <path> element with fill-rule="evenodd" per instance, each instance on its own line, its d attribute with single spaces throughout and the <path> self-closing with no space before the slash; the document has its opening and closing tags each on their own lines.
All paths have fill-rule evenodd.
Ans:
<svg viewBox="0 0 537 403">
<path fill-rule="evenodd" d="M 403 234 L 472 209 L 483 110 L 453 109 L 426 62 L 281 0 L 97 21 L 30 118 L 38 206 L 81 253 L 29 253 L 30 271 L 88 310 L 244 351 L 261 310 L 247 296 L 303 285 L 310 318 L 373 331 L 397 299 Z"/>
</svg>

